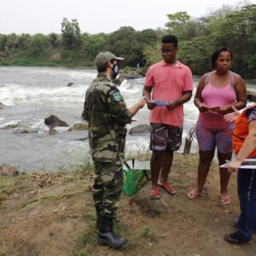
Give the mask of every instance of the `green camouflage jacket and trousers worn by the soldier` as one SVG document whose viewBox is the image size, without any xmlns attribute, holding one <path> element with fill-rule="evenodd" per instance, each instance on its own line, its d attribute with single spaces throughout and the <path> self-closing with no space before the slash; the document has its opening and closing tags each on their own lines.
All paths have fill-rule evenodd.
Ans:
<svg viewBox="0 0 256 256">
<path fill-rule="evenodd" d="M 101 209 L 102 216 L 113 218 L 123 187 L 125 125 L 131 123 L 131 113 L 118 88 L 105 74 L 98 73 L 86 91 L 82 116 L 89 123 L 90 153 L 96 172 L 96 209 Z"/>
</svg>

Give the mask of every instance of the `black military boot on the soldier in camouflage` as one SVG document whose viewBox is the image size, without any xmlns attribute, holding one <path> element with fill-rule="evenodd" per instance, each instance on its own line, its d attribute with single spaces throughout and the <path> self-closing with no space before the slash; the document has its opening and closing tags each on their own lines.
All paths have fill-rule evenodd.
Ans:
<svg viewBox="0 0 256 256">
<path fill-rule="evenodd" d="M 120 248 L 125 245 L 124 238 L 120 238 L 113 233 L 113 218 L 100 217 L 100 230 L 97 242 L 113 248 Z"/>
</svg>

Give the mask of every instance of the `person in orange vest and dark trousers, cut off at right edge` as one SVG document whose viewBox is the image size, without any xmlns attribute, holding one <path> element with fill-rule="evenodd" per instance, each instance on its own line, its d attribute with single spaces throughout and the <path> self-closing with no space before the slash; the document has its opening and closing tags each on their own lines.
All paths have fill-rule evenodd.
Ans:
<svg viewBox="0 0 256 256">
<path fill-rule="evenodd" d="M 234 108 L 236 110 L 236 108 Z M 226 114 L 225 119 L 232 121 L 237 112 Z M 238 172 L 237 191 L 241 213 L 236 224 L 236 232 L 224 236 L 225 241 L 240 244 L 252 239 L 256 231 L 256 166 L 243 169 L 241 164 L 247 158 L 256 159 L 256 104 L 246 108 L 235 121 L 233 148 L 236 159 L 231 160 L 228 171 Z"/>
</svg>

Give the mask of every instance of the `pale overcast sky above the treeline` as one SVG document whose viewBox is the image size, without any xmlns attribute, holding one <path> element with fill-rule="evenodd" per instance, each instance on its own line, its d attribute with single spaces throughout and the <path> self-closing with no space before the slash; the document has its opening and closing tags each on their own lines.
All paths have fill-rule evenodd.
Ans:
<svg viewBox="0 0 256 256">
<path fill-rule="evenodd" d="M 81 32 L 164 28 L 167 14 L 187 11 L 193 18 L 244 0 L 0 0 L 0 33 L 61 33 L 61 21 L 79 21 Z M 249 0 L 256 3 L 256 0 Z"/>
</svg>

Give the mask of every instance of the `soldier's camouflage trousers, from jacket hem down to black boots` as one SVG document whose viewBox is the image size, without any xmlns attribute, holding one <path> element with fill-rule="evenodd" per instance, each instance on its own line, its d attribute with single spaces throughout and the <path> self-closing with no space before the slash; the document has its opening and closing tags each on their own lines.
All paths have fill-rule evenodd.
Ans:
<svg viewBox="0 0 256 256">
<path fill-rule="evenodd" d="M 123 189 L 123 169 L 116 163 L 95 163 L 93 200 L 101 215 L 114 218 Z"/>
</svg>

